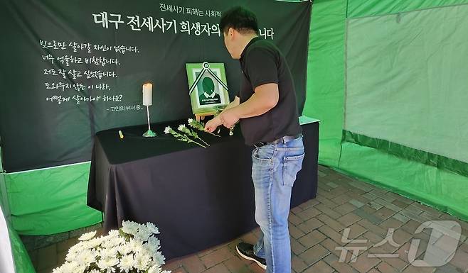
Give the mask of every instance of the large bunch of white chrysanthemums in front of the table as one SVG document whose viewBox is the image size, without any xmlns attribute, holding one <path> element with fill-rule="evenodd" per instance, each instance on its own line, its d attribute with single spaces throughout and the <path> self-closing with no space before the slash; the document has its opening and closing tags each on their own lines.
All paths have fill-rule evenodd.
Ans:
<svg viewBox="0 0 468 273">
<path fill-rule="evenodd" d="M 95 238 L 95 231 L 85 233 L 53 273 L 169 273 L 161 269 L 165 258 L 156 234 L 156 225 L 132 221 L 124 221 L 122 228 L 107 236 Z"/>
</svg>

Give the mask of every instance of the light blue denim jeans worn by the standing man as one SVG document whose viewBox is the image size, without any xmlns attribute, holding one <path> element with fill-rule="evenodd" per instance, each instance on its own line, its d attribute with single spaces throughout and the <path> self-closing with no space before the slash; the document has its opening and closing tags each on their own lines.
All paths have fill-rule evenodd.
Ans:
<svg viewBox="0 0 468 273">
<path fill-rule="evenodd" d="M 287 218 L 292 186 L 303 159 L 302 137 L 252 151 L 255 221 L 262 231 L 253 248 L 257 257 L 267 260 L 268 273 L 291 272 Z"/>
</svg>

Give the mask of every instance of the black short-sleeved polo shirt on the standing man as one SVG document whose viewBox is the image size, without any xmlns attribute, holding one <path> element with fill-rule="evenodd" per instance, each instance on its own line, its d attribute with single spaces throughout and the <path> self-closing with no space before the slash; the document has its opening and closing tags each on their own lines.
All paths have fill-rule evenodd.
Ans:
<svg viewBox="0 0 468 273">
<path fill-rule="evenodd" d="M 243 72 L 238 97 L 240 103 L 250 99 L 256 87 L 278 84 L 278 104 L 260 116 L 240 119 L 245 143 L 271 142 L 284 135 L 302 133 L 297 113 L 294 82 L 284 56 L 272 43 L 260 37 L 253 38 L 240 55 Z"/>
</svg>

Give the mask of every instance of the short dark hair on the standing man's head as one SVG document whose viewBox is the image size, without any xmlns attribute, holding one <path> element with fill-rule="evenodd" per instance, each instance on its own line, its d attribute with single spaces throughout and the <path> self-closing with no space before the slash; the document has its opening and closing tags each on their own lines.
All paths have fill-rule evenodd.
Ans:
<svg viewBox="0 0 468 273">
<path fill-rule="evenodd" d="M 255 32 L 258 35 L 257 16 L 242 6 L 235 6 L 223 13 L 219 28 L 223 30 L 223 33 L 228 32 L 229 28 L 234 28 L 241 34 Z"/>
</svg>

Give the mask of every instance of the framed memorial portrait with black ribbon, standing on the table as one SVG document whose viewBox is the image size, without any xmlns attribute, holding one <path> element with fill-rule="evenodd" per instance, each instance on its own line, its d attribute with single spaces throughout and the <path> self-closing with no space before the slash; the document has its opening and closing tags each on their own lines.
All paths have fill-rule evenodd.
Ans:
<svg viewBox="0 0 468 273">
<path fill-rule="evenodd" d="M 186 64 L 192 113 L 216 111 L 229 104 L 228 82 L 223 63 Z"/>
</svg>

